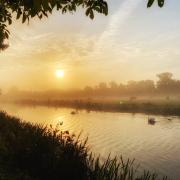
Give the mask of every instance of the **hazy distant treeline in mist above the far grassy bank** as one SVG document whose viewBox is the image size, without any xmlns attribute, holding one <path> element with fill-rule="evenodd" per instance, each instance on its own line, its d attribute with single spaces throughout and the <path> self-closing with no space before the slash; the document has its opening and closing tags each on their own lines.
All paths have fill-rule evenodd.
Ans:
<svg viewBox="0 0 180 180">
<path fill-rule="evenodd" d="M 44 97 L 46 99 L 57 99 L 127 96 L 133 99 L 136 96 L 166 95 L 168 98 L 170 95 L 180 95 L 180 80 L 173 79 L 172 73 L 164 72 L 158 74 L 157 77 L 156 82 L 153 80 L 129 81 L 126 84 L 118 84 L 114 81 L 110 83 L 101 82 L 94 87 L 86 86 L 84 89 L 73 90 L 19 91 L 14 88 L 8 92 L 7 96 L 38 99 L 44 99 Z"/>
</svg>

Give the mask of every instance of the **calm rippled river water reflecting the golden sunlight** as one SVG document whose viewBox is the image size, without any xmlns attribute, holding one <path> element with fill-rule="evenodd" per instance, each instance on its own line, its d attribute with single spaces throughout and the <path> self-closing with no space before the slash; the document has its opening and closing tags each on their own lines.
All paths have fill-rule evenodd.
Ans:
<svg viewBox="0 0 180 180">
<path fill-rule="evenodd" d="M 148 116 L 128 113 L 102 113 L 48 107 L 1 105 L 1 109 L 33 123 L 56 126 L 89 137 L 93 152 L 106 157 L 123 155 L 135 158 L 143 168 L 156 170 L 174 179 L 180 177 L 180 118 L 155 116 L 150 126 Z M 76 111 L 74 111 L 76 112 Z"/>
</svg>

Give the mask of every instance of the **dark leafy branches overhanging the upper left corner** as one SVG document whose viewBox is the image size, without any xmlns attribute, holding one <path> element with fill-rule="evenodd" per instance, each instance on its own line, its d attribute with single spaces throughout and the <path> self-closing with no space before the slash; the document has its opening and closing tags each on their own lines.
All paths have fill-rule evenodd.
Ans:
<svg viewBox="0 0 180 180">
<path fill-rule="evenodd" d="M 9 38 L 7 26 L 12 24 L 12 15 L 25 23 L 34 17 L 48 17 L 54 9 L 64 14 L 75 12 L 80 6 L 85 8 L 86 16 L 91 19 L 94 18 L 94 12 L 108 14 L 105 0 L 0 0 L 0 50 L 8 47 L 5 41 Z"/>
</svg>

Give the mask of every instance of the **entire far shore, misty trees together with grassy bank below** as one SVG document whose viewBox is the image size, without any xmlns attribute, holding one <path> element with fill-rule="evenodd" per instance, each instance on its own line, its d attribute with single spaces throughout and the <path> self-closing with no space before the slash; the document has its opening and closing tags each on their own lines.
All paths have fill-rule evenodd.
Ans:
<svg viewBox="0 0 180 180">
<path fill-rule="evenodd" d="M 76 110 L 130 112 L 180 116 L 180 80 L 171 73 L 158 74 L 158 81 L 99 83 L 77 90 L 19 91 L 11 89 L 1 102 L 21 105 L 69 107 Z"/>
</svg>

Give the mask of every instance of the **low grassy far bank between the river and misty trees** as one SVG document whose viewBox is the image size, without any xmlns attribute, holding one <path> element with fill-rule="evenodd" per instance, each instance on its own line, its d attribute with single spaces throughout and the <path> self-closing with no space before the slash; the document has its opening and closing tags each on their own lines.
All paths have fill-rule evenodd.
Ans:
<svg viewBox="0 0 180 180">
<path fill-rule="evenodd" d="M 32 106 L 70 107 L 87 111 L 180 116 L 180 102 L 178 101 L 21 100 L 15 103 Z"/>
</svg>

